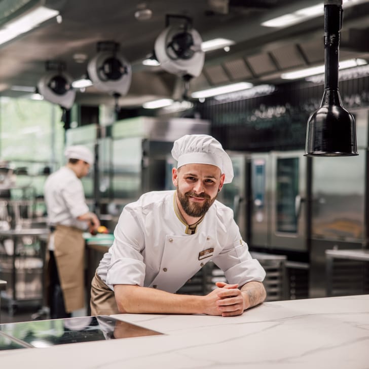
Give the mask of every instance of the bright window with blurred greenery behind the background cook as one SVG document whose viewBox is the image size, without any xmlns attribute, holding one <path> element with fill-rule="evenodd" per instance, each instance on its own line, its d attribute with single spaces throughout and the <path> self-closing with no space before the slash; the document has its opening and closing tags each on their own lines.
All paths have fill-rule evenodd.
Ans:
<svg viewBox="0 0 369 369">
<path fill-rule="evenodd" d="M 15 174 L 12 198 L 24 196 L 19 189 L 25 188 L 42 197 L 47 174 L 64 164 L 61 115 L 47 101 L 0 97 L 0 160 Z"/>
</svg>

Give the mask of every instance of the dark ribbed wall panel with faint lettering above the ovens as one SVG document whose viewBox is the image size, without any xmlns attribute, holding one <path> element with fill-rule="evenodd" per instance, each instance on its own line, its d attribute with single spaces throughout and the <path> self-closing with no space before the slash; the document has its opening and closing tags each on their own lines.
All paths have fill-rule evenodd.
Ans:
<svg viewBox="0 0 369 369">
<path fill-rule="evenodd" d="M 341 81 L 346 109 L 369 105 L 369 77 Z M 211 121 L 211 133 L 228 150 L 301 150 L 308 118 L 321 103 L 323 84 L 286 83 L 268 96 L 219 102 L 207 99 L 196 109 Z"/>
</svg>

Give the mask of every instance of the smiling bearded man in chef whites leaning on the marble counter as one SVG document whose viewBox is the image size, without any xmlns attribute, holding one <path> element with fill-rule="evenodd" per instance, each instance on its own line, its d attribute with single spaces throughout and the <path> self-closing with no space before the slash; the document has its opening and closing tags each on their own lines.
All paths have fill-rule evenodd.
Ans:
<svg viewBox="0 0 369 369">
<path fill-rule="evenodd" d="M 232 162 L 208 135 L 174 142 L 176 190 L 143 194 L 124 207 L 115 240 L 92 280 L 91 314 L 173 313 L 233 316 L 262 303 L 265 271 L 216 200 L 233 178 Z M 207 262 L 224 271 L 206 296 L 175 293 Z"/>
</svg>

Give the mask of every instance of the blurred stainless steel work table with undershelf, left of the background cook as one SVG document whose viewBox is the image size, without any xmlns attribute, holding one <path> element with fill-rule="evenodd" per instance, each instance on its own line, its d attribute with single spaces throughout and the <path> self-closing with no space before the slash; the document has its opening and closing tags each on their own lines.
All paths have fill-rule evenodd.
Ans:
<svg viewBox="0 0 369 369">
<path fill-rule="evenodd" d="M 43 305 L 43 292 L 44 292 L 44 276 L 43 276 L 43 269 L 44 269 L 44 263 L 45 263 L 45 247 L 46 244 L 44 241 L 41 240 L 42 236 L 47 236 L 49 234 L 48 228 L 23 228 L 23 229 L 11 229 L 11 230 L 2 230 L 0 231 L 0 238 L 5 239 L 11 239 L 13 241 L 13 249 L 11 250 L 10 254 L 2 254 L 0 256 L 3 257 L 3 259 L 11 259 L 11 271 L 10 271 L 10 280 L 7 280 L 8 285 L 7 289 L 11 288 L 11 293 L 8 294 L 6 292 L 2 292 L 2 297 L 4 298 L 4 301 L 8 302 L 8 308 L 9 308 L 9 314 L 12 315 L 14 313 L 14 309 L 19 304 L 36 304 L 40 307 Z M 27 255 L 26 248 L 29 245 L 24 245 L 23 240 L 20 240 L 23 237 L 31 237 L 38 239 L 39 241 L 39 250 L 34 250 L 35 258 L 40 261 L 40 266 L 37 268 L 39 270 L 39 278 L 40 278 L 40 292 L 37 294 L 38 296 L 25 296 L 20 297 L 19 293 L 17 291 L 17 270 L 21 268 L 19 265 L 17 268 L 16 260 L 19 257 L 22 257 L 24 261 L 27 261 L 27 258 L 29 255 Z M 32 248 L 32 246 L 29 246 Z M 33 252 L 33 251 L 32 251 Z M 4 262 L 3 263 L 3 269 L 4 269 Z M 20 264 L 20 263 L 18 263 Z M 2 274 L 4 274 L 2 272 Z M 4 278 L 4 277 L 3 277 Z"/>
</svg>

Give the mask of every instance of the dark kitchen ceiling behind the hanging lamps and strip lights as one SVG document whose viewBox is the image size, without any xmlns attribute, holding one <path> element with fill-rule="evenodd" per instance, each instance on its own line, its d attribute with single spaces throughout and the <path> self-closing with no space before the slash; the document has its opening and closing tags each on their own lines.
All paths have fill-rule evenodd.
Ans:
<svg viewBox="0 0 369 369">
<path fill-rule="evenodd" d="M 280 73 L 324 63 L 323 16 L 281 28 L 261 22 L 291 11 L 316 5 L 316 0 L 46 0 L 45 6 L 60 11 L 62 22 L 49 20 L 36 29 L 0 46 L 0 95 L 19 96 L 12 86 L 37 85 L 45 74 L 46 61 L 62 62 L 73 79 L 86 73 L 87 63 L 97 52 L 97 43 L 114 41 L 132 66 L 132 83 L 121 106 L 136 106 L 161 97 L 180 96 L 182 81 L 159 67 L 142 65 L 165 28 L 165 15 L 186 15 L 203 41 L 226 38 L 235 42 L 230 51 L 207 52 L 202 73 L 190 91 L 249 81 L 281 83 Z M 12 4 L 0 0 L 0 11 Z M 135 17 L 137 10 L 150 9 L 147 20 Z M 345 9 L 340 60 L 369 60 L 369 2 L 359 1 Z M 0 17 L 3 17 L 0 14 Z M 0 18 L 1 21 L 1 18 Z M 1 24 L 1 23 L 0 23 Z M 82 58 L 81 55 L 83 54 Z M 83 57 L 85 59 L 83 59 Z M 93 86 L 77 92 L 83 104 L 111 103 L 114 99 Z"/>
</svg>

